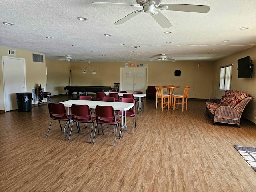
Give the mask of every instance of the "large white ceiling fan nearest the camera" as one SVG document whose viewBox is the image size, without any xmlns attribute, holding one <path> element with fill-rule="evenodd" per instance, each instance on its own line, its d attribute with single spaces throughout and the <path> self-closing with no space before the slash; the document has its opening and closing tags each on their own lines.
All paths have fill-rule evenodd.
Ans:
<svg viewBox="0 0 256 192">
<path fill-rule="evenodd" d="M 185 11 L 185 12 L 197 12 L 197 13 L 207 13 L 210 10 L 209 6 L 206 5 L 187 5 L 187 4 L 161 4 L 162 0 L 136 0 L 137 4 L 128 4 L 128 3 L 110 3 L 110 2 L 92 2 L 95 5 L 124 5 L 124 6 L 134 6 L 136 8 L 143 8 L 142 10 L 136 10 L 124 18 L 115 22 L 115 25 L 123 24 L 134 16 L 142 13 L 149 13 L 156 22 L 162 28 L 169 28 L 172 26 L 170 21 L 159 11 L 168 10 L 168 11 Z"/>
</svg>

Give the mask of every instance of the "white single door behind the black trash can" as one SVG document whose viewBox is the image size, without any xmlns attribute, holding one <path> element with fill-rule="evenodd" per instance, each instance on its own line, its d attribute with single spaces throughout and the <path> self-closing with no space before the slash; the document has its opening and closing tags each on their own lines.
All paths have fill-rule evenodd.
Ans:
<svg viewBox="0 0 256 192">
<path fill-rule="evenodd" d="M 16 93 L 26 92 L 25 59 L 2 56 L 4 75 L 4 110 L 18 108 Z"/>
</svg>

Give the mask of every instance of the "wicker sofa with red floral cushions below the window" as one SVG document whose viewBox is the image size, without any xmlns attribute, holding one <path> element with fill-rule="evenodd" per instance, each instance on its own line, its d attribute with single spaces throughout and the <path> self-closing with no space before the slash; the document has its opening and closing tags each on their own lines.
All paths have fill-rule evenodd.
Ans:
<svg viewBox="0 0 256 192">
<path fill-rule="evenodd" d="M 236 124 L 240 126 L 240 118 L 252 96 L 240 91 L 226 90 L 221 99 L 211 98 L 206 102 L 205 112 L 215 123 Z"/>
</svg>

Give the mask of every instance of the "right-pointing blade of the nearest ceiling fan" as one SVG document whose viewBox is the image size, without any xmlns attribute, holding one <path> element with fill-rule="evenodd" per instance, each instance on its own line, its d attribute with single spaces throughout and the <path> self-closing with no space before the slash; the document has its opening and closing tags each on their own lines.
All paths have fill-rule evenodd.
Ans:
<svg viewBox="0 0 256 192">
<path fill-rule="evenodd" d="M 162 6 L 168 6 L 168 8 L 165 10 L 169 10 L 169 11 L 207 13 L 210 10 L 210 7 L 207 5 L 160 4 L 158 7 L 160 8 Z"/>
</svg>

